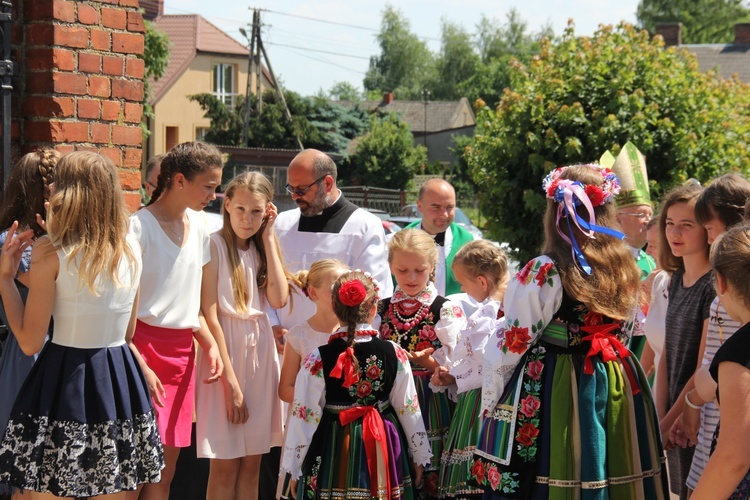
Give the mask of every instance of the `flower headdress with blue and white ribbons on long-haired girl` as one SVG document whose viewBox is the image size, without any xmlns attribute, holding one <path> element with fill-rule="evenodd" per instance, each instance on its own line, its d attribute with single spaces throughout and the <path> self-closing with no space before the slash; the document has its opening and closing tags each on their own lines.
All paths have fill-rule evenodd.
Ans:
<svg viewBox="0 0 750 500">
<path fill-rule="evenodd" d="M 581 233 L 590 239 L 596 238 L 594 233 L 602 233 L 618 239 L 625 238 L 625 235 L 620 231 L 598 226 L 594 223 L 596 220 L 594 216 L 594 207 L 615 200 L 615 197 L 620 193 L 620 180 L 612 170 L 602 168 L 596 164 L 573 166 L 591 168 L 602 176 L 602 183 L 600 185 L 593 185 L 583 184 L 580 181 L 573 181 L 570 179 L 562 179 L 562 173 L 570 167 L 559 167 L 547 174 L 547 177 L 544 178 L 544 182 L 542 182 L 542 189 L 544 189 L 548 199 L 554 200 L 558 203 L 557 222 L 555 223 L 555 226 L 557 228 L 557 233 L 570 245 L 571 252 L 573 253 L 573 262 L 575 262 L 576 266 L 578 266 L 583 272 L 591 274 L 591 266 L 586 262 L 586 257 L 584 257 L 581 248 L 578 246 L 578 242 L 572 237 L 573 224 L 578 227 Z M 576 211 L 576 209 L 581 206 L 587 211 L 586 219 L 578 215 L 578 212 Z M 568 226 L 568 234 L 570 234 L 571 237 L 566 235 L 560 229 L 560 221 L 562 219 L 565 219 L 565 223 Z"/>
</svg>

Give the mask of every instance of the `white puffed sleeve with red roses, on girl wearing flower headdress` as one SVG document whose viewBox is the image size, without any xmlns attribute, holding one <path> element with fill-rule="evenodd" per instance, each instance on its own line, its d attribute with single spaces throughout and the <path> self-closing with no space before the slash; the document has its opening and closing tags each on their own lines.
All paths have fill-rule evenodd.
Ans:
<svg viewBox="0 0 750 500">
<path fill-rule="evenodd" d="M 482 414 L 492 411 L 516 365 L 537 342 L 562 302 L 562 283 L 547 256 L 531 260 L 505 293 L 505 325 L 487 341 L 482 368 Z"/>
</svg>

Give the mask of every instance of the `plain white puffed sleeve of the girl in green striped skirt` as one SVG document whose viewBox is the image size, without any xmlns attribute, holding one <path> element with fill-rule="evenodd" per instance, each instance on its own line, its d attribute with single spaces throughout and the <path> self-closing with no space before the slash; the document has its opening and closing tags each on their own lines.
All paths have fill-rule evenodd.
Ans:
<svg viewBox="0 0 750 500">
<path fill-rule="evenodd" d="M 466 323 L 466 329 L 461 332 L 461 340 L 456 346 L 454 360 L 448 368 L 456 379 L 453 390 L 449 388 L 449 394 L 455 392 L 458 395 L 482 387 L 482 363 L 487 340 L 505 324 L 504 317 L 498 318 L 499 310 L 499 302 L 489 302 L 472 314 Z"/>
</svg>

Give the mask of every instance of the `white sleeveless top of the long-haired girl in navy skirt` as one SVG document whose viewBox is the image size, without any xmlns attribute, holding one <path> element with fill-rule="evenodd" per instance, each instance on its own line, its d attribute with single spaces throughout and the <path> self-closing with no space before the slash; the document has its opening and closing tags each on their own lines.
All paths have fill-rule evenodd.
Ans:
<svg viewBox="0 0 750 500">
<path fill-rule="evenodd" d="M 125 343 L 142 267 L 138 242 L 129 236 L 128 243 L 135 254 L 137 271 L 132 272 L 132 261 L 122 259 L 118 274 L 120 284 L 113 283 L 105 272 L 96 281 L 98 296 L 78 279 L 81 255 L 71 260 L 64 250 L 57 251 L 60 270 L 55 280 L 52 309 L 55 334 L 51 342 L 82 349 L 115 347 Z"/>
</svg>

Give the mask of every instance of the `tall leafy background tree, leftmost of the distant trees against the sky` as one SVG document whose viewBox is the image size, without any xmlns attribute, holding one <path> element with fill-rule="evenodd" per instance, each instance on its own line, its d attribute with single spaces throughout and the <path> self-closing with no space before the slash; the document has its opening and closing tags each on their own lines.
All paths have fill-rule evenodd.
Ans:
<svg viewBox="0 0 750 500">
<path fill-rule="evenodd" d="M 393 92 L 398 99 L 419 99 L 434 75 L 427 44 L 410 31 L 403 13 L 390 5 L 383 12 L 377 39 L 381 53 L 370 58 L 365 90 Z"/>
</svg>

